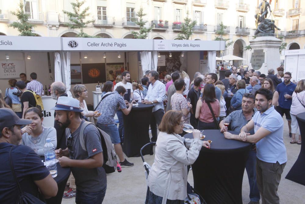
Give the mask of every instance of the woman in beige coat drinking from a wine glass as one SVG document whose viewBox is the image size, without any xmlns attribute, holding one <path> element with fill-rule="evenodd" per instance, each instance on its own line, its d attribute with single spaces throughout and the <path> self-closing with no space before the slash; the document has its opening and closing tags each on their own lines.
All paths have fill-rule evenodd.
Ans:
<svg viewBox="0 0 305 204">
<path fill-rule="evenodd" d="M 155 161 L 148 176 L 148 204 L 182 204 L 187 196 L 187 165 L 193 164 L 201 147 L 210 148 L 200 141 L 200 131 L 193 131 L 194 139 L 185 139 L 181 111 L 166 112 L 159 125 Z M 185 145 L 184 145 L 185 142 Z M 187 149 L 188 148 L 188 149 Z"/>
</svg>

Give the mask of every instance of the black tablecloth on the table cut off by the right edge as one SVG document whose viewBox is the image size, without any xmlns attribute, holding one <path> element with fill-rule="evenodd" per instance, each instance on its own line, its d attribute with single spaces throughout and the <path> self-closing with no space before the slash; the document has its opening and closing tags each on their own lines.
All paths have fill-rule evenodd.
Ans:
<svg viewBox="0 0 305 204">
<path fill-rule="evenodd" d="M 296 162 L 293 164 L 285 178 L 298 184 L 305 185 L 305 113 L 297 114 L 296 120 L 298 120 L 300 127 L 302 146 L 298 159 L 296 159 Z M 296 137 L 298 137 L 297 134 Z"/>
</svg>

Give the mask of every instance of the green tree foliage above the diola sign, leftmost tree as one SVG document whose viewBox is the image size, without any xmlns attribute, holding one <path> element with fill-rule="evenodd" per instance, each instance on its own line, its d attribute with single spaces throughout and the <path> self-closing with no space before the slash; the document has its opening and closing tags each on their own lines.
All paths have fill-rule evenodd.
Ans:
<svg viewBox="0 0 305 204">
<path fill-rule="evenodd" d="M 16 28 L 20 32 L 20 36 L 37 36 L 37 34 L 33 33 L 35 25 L 30 24 L 28 22 L 29 15 L 24 13 L 23 3 L 19 4 L 19 9 L 17 11 L 11 11 L 11 14 L 17 16 L 20 22 L 13 22 L 8 25 L 8 27 Z"/>
</svg>

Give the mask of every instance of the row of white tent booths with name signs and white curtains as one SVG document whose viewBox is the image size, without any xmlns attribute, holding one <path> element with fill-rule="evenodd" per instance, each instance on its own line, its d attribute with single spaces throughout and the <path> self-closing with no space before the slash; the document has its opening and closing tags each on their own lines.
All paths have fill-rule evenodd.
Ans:
<svg viewBox="0 0 305 204">
<path fill-rule="evenodd" d="M 131 73 L 132 81 L 140 82 L 146 70 L 166 69 L 167 62 L 175 59 L 180 64 L 178 69 L 185 70 L 192 80 L 197 71 L 213 72 L 216 51 L 224 49 L 224 41 L 1 36 L 2 64 L 19 60 L 22 69 L 15 75 L 1 74 L 0 89 L 5 91 L 10 78 L 20 80 L 20 73 L 26 73 L 29 80 L 30 73 L 36 72 L 38 81 L 47 88 L 53 81 L 62 81 L 72 92 L 74 84 L 84 84 L 88 89 L 86 102 L 94 105 L 95 85 L 115 80 L 124 70 Z M 46 100 L 54 106 L 55 100 L 43 97 L 44 104 Z M 44 125 L 52 126 L 54 111 L 45 106 L 44 115 Z"/>
</svg>

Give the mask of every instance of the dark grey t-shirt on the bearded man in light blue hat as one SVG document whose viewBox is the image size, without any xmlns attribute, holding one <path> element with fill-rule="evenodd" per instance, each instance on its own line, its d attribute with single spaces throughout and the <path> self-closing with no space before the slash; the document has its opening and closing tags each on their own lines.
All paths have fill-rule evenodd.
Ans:
<svg viewBox="0 0 305 204">
<path fill-rule="evenodd" d="M 84 120 L 81 122 L 81 125 Z M 88 125 L 84 129 L 84 142 L 87 151 L 84 151 L 80 142 L 81 125 L 72 134 L 71 147 L 69 149 L 70 159 L 89 159 L 102 152 L 102 145 L 98 129 L 94 125 Z M 66 139 L 68 135 L 66 135 Z M 107 185 L 106 172 L 103 167 L 93 169 L 71 167 L 72 174 L 75 178 L 75 184 L 79 191 L 96 192 L 101 191 Z"/>
</svg>

